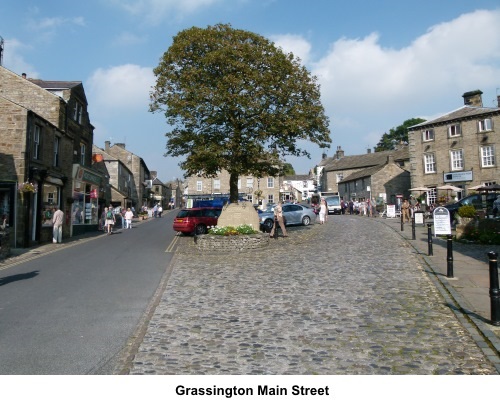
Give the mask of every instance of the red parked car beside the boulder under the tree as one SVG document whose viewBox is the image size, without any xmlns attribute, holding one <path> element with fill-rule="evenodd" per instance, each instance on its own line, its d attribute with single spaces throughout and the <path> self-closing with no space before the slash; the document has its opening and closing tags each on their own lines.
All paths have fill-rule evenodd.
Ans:
<svg viewBox="0 0 500 405">
<path fill-rule="evenodd" d="M 184 235 L 207 233 L 208 227 L 217 225 L 221 212 L 222 208 L 218 207 L 182 209 L 174 219 L 174 231 Z"/>
</svg>

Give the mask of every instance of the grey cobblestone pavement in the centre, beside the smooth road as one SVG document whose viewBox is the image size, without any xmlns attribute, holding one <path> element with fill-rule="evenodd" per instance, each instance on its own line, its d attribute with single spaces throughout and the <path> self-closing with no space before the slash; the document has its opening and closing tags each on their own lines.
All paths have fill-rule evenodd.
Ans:
<svg viewBox="0 0 500 405">
<path fill-rule="evenodd" d="M 415 250 L 329 217 L 251 253 L 180 238 L 129 374 L 497 374 Z"/>
</svg>

